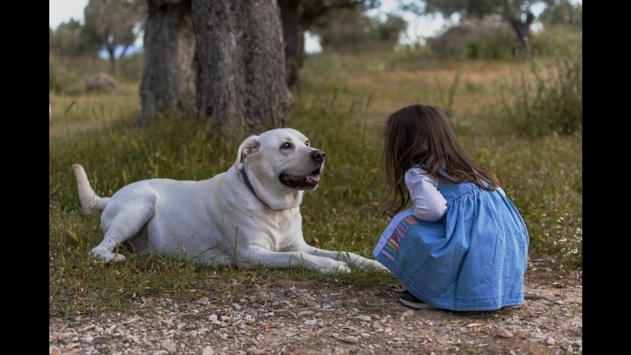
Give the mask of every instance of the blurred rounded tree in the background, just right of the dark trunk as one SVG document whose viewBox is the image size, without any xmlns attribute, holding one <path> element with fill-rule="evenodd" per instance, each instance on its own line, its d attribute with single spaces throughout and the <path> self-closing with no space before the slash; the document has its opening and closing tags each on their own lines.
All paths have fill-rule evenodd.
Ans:
<svg viewBox="0 0 631 355">
<path fill-rule="evenodd" d="M 365 8 L 357 6 L 322 16 L 312 31 L 320 36 L 325 50 L 382 51 L 392 49 L 398 43 L 399 35 L 407 25 L 396 15 L 387 14 L 385 20 L 379 16 L 366 16 Z"/>
</svg>

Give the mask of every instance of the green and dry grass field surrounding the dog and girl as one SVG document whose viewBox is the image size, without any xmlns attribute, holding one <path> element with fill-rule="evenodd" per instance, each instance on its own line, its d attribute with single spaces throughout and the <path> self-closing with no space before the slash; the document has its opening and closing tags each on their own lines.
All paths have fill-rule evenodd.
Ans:
<svg viewBox="0 0 631 355">
<path fill-rule="evenodd" d="M 375 205 L 385 195 L 379 159 L 381 122 L 403 105 L 446 107 L 471 154 L 492 167 L 528 226 L 531 258 L 555 270 L 582 268 L 582 135 L 528 137 L 493 129 L 502 119 L 502 85 L 517 64 L 466 61 L 452 89 L 456 62 L 437 63 L 413 52 L 310 58 L 294 90 L 289 126 L 327 152 L 321 186 L 305 195 L 305 239 L 319 246 L 370 253 L 392 215 Z M 455 95 L 450 99 L 451 93 Z M 321 275 L 306 270 L 216 270 L 187 260 L 136 255 L 122 265 L 88 257 L 102 239 L 98 216 L 80 213 L 71 165 L 81 163 L 99 195 L 149 178 L 206 179 L 226 171 L 245 137 L 218 137 L 194 119 L 164 120 L 144 128 L 138 84 L 116 93 L 59 95 L 49 141 L 49 312 L 51 316 L 120 311 L 143 299 L 237 298 L 246 287 L 278 282 L 395 287 L 382 272 Z M 69 110 L 68 110 L 69 108 Z M 289 281 L 287 281 L 289 280 Z M 145 308 L 142 308 L 145 309 Z M 146 309 L 150 309 L 147 306 Z"/>
</svg>

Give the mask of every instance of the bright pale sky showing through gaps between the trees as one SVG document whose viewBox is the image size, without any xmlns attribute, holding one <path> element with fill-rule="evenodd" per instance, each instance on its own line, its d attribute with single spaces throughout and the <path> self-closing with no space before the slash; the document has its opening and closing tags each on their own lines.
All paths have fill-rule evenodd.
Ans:
<svg viewBox="0 0 631 355">
<path fill-rule="evenodd" d="M 570 2 L 574 4 L 583 3 L 582 0 L 570 0 Z M 88 0 L 49 0 L 50 27 L 56 28 L 59 23 L 68 21 L 71 18 L 82 21 L 83 9 L 87 3 Z M 369 11 L 369 15 L 375 16 L 390 12 L 403 16 L 404 20 L 408 21 L 408 29 L 405 33 L 402 33 L 399 38 L 401 44 L 423 43 L 427 37 L 432 37 L 439 33 L 445 23 L 456 23 L 458 21 L 457 15 L 445 20 L 445 18 L 440 15 L 416 16 L 413 13 L 404 13 L 398 9 L 398 2 L 396 0 L 382 0 L 381 3 L 381 8 Z M 534 15 L 539 16 L 544 8 L 545 5 L 543 3 L 534 4 L 532 8 Z M 536 30 L 536 28 L 533 28 L 533 30 Z M 141 46 L 142 39 L 139 39 L 136 45 Z M 305 51 L 308 53 L 322 51 L 317 36 L 306 33 Z"/>
</svg>

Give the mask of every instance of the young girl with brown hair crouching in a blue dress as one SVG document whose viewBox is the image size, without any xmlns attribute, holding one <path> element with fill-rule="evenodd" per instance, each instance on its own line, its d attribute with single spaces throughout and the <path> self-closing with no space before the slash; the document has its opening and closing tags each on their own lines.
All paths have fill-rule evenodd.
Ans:
<svg viewBox="0 0 631 355">
<path fill-rule="evenodd" d="M 373 254 L 401 281 L 401 303 L 453 311 L 524 303 L 528 232 L 495 174 L 460 145 L 444 112 L 391 114 L 382 167 L 386 210 L 399 212 Z"/>
</svg>

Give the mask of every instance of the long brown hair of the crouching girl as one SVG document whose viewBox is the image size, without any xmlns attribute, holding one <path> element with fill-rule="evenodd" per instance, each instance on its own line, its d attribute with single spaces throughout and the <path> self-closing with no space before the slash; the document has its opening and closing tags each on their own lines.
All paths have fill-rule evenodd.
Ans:
<svg viewBox="0 0 631 355">
<path fill-rule="evenodd" d="M 493 171 L 464 150 L 438 107 L 415 104 L 394 112 L 387 118 L 383 138 L 381 167 L 388 189 L 383 210 L 396 212 L 410 202 L 404 176 L 415 164 L 423 164 L 439 183 L 471 181 L 489 191 L 499 186 Z"/>
</svg>

